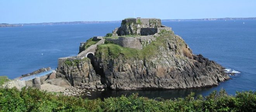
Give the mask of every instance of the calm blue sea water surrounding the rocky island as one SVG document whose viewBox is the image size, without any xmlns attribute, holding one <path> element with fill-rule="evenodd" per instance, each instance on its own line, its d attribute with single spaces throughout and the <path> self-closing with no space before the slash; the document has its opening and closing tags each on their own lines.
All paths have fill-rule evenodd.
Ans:
<svg viewBox="0 0 256 112">
<path fill-rule="evenodd" d="M 243 22 L 245 24 L 243 24 Z M 193 53 L 241 72 L 213 88 L 165 91 L 104 91 L 94 97 L 139 93 L 149 98 L 175 98 L 196 94 L 208 95 L 224 88 L 235 91 L 256 89 L 256 21 L 181 21 L 162 22 L 182 36 Z M 120 23 L 59 26 L 24 26 L 0 28 L 0 76 L 16 78 L 42 67 L 57 67 L 57 59 L 76 55 L 80 42 L 92 36 L 111 33 Z"/>
</svg>

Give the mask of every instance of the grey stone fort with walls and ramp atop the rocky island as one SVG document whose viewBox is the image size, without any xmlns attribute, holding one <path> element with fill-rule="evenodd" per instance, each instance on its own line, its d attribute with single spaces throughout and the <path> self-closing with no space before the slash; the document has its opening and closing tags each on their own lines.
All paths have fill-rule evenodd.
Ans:
<svg viewBox="0 0 256 112">
<path fill-rule="evenodd" d="M 94 36 L 92 41 L 97 43 L 85 48 L 86 42 L 80 43 L 80 53 L 77 56 L 63 57 L 58 60 L 60 68 L 65 60 L 81 60 L 84 57 L 93 59 L 97 45 L 113 43 L 121 47 L 135 48 L 141 50 L 156 40 L 158 33 L 162 30 L 171 31 L 170 27 L 161 24 L 161 19 L 127 18 L 122 20 L 121 26 L 112 31 L 111 37 Z M 84 48 L 84 50 L 82 50 Z"/>
</svg>

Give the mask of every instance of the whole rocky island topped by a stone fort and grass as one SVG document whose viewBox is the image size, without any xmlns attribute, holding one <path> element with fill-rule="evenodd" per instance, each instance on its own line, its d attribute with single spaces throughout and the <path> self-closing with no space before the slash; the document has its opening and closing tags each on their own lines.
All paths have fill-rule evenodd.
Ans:
<svg viewBox="0 0 256 112">
<path fill-rule="evenodd" d="M 229 79 L 223 69 L 193 54 L 160 19 L 128 18 L 81 43 L 76 57 L 60 58 L 56 77 L 87 89 L 170 90 L 217 86 Z"/>
</svg>

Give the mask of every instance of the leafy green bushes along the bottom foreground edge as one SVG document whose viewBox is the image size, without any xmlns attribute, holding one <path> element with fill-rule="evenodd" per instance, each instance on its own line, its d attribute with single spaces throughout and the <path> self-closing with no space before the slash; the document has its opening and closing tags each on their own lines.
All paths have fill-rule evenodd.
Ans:
<svg viewBox="0 0 256 112">
<path fill-rule="evenodd" d="M 256 92 L 225 90 L 210 95 L 163 100 L 133 94 L 128 97 L 88 100 L 74 96 L 53 95 L 35 88 L 0 88 L 0 112 L 255 112 Z"/>
</svg>

